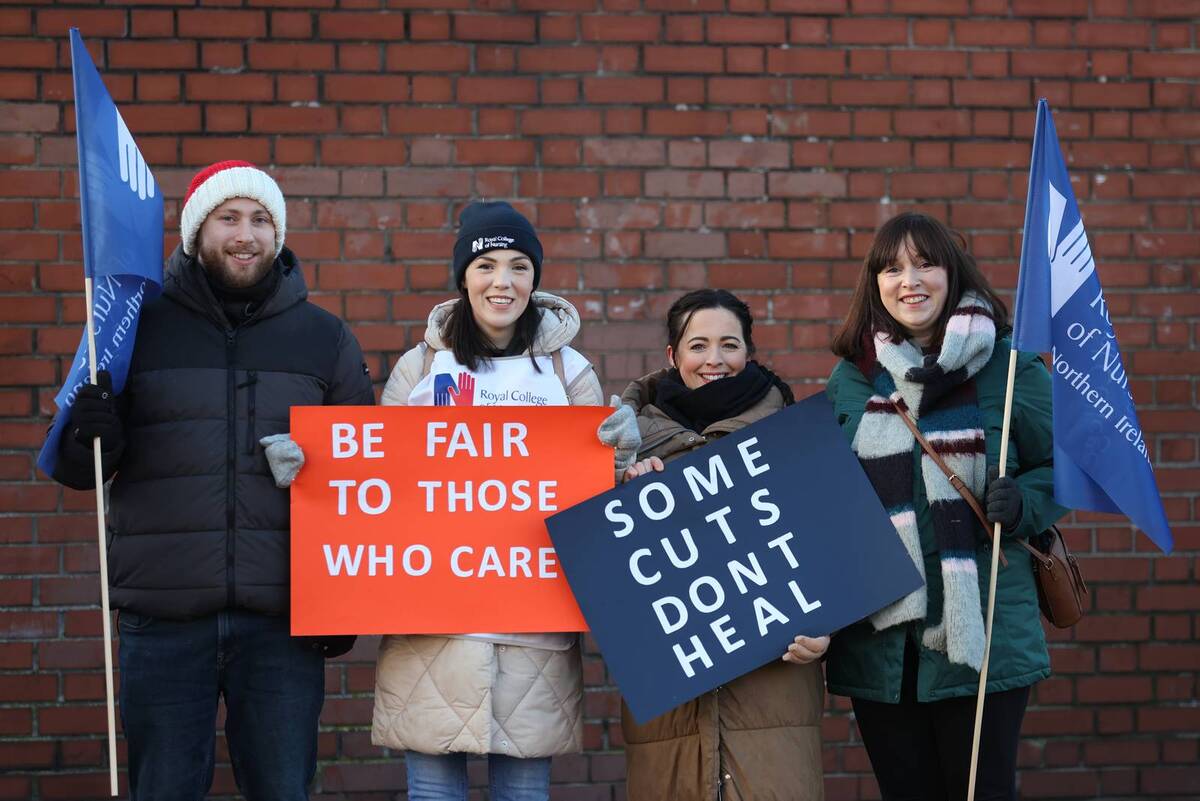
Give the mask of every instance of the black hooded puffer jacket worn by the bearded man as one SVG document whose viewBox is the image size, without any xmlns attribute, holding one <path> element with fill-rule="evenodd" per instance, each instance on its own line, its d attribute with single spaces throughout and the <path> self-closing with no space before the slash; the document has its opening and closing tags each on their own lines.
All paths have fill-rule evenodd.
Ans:
<svg viewBox="0 0 1200 801">
<path fill-rule="evenodd" d="M 294 405 L 372 404 L 362 351 L 306 301 L 287 248 L 278 287 L 234 327 L 203 267 L 176 248 L 145 305 L 119 398 L 125 451 L 108 510 L 114 607 L 156 618 L 288 609 L 289 500 L 258 444 Z M 62 438 L 54 478 L 94 486 L 91 451 Z"/>
</svg>

